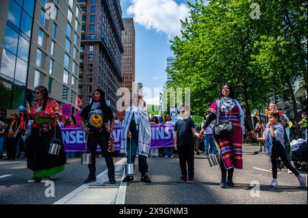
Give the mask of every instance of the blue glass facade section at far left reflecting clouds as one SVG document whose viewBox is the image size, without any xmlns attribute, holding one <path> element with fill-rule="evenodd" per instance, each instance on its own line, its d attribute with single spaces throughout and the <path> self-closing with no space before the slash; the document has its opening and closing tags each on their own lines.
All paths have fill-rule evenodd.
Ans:
<svg viewBox="0 0 308 218">
<path fill-rule="evenodd" d="M 1 110 L 24 103 L 34 6 L 34 0 L 0 1 Z"/>
</svg>

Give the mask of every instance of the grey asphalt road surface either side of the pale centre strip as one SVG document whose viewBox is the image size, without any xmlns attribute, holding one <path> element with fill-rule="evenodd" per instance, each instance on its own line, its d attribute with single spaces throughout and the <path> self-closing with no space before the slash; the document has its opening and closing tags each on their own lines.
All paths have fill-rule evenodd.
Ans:
<svg viewBox="0 0 308 218">
<path fill-rule="evenodd" d="M 243 150 L 244 169 L 235 169 L 235 187 L 228 189 L 220 188 L 219 167 L 209 167 L 203 155 L 194 159 L 194 184 L 177 182 L 181 176 L 179 159 L 149 158 L 148 175 L 152 183 L 140 182 L 137 166 L 135 179 L 126 187 L 125 204 L 307 204 L 307 188 L 300 189 L 293 174 L 282 169 L 278 187 L 269 187 L 272 173 L 268 157 L 264 153 L 254 154 L 257 146 L 244 146 Z M 114 163 L 122 158 L 114 157 Z M 105 169 L 105 159 L 98 158 L 97 174 Z M 300 173 L 307 175 L 307 172 Z M 53 204 L 83 185 L 88 167 L 81 165 L 79 158 L 68 159 L 66 170 L 53 176 L 55 197 L 45 196 L 44 183 L 27 183 L 31 176 L 26 159 L 0 160 L 0 204 Z"/>
</svg>

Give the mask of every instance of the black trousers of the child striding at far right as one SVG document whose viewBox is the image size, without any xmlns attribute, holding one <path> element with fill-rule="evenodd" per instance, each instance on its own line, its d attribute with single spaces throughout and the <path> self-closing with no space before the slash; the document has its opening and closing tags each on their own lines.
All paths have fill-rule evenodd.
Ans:
<svg viewBox="0 0 308 218">
<path fill-rule="evenodd" d="M 281 158 L 283 165 L 290 169 L 295 176 L 299 176 L 297 170 L 291 165 L 290 161 L 287 160 L 287 154 L 285 153 L 285 148 L 278 142 L 272 141 L 272 155 L 270 156 L 270 161 L 272 161 L 272 178 L 277 178 L 277 159 Z"/>
</svg>

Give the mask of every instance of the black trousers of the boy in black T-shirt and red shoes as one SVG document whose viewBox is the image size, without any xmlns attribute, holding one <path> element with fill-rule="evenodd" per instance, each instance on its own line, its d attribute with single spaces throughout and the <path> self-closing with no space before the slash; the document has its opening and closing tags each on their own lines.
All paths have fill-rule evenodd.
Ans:
<svg viewBox="0 0 308 218">
<path fill-rule="evenodd" d="M 188 165 L 188 176 L 194 176 L 194 145 L 178 146 L 177 149 L 182 176 L 187 176 L 186 164 Z"/>
</svg>

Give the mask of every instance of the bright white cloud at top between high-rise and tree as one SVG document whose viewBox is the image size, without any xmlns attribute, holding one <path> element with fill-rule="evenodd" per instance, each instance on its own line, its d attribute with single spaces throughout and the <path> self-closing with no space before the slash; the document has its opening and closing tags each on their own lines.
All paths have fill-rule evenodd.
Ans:
<svg viewBox="0 0 308 218">
<path fill-rule="evenodd" d="M 164 32 L 171 38 L 181 33 L 181 22 L 188 16 L 188 5 L 174 0 L 131 0 L 127 14 L 146 29 Z"/>
</svg>

